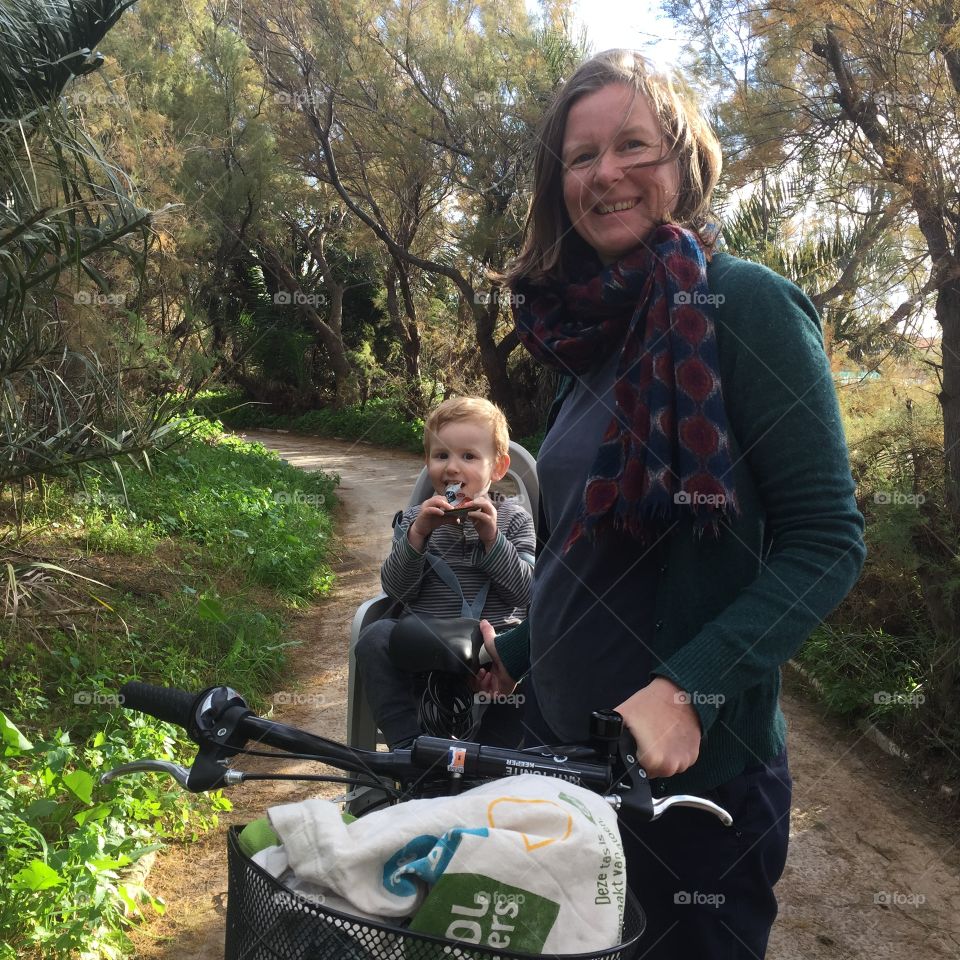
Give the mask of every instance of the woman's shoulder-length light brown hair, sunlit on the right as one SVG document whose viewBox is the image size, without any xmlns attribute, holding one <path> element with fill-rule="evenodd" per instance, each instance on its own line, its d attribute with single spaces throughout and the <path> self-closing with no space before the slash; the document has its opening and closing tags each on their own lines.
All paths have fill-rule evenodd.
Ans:
<svg viewBox="0 0 960 960">
<path fill-rule="evenodd" d="M 614 83 L 632 87 L 653 109 L 667 144 L 666 154 L 653 162 L 677 161 L 680 189 L 669 220 L 692 230 L 706 222 L 723 161 L 720 142 L 693 94 L 678 76 L 658 72 L 637 51 L 605 50 L 577 67 L 540 121 L 523 246 L 495 280 L 507 286 L 524 277 L 562 281 L 566 254 L 586 246 L 563 202 L 563 136 L 573 104 Z"/>
</svg>

